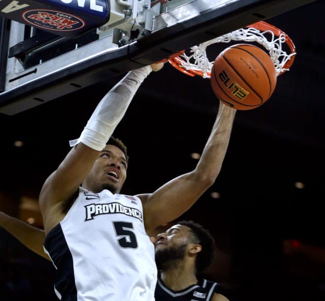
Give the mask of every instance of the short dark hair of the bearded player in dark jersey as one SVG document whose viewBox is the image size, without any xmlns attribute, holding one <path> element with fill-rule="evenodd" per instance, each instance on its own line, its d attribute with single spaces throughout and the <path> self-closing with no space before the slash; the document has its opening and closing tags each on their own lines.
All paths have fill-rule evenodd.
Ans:
<svg viewBox="0 0 325 301">
<path fill-rule="evenodd" d="M 192 242 L 202 246 L 202 250 L 196 255 L 195 268 L 196 273 L 203 272 L 213 263 L 216 256 L 216 246 L 213 236 L 202 225 L 194 221 L 180 221 L 177 224 L 189 227 L 191 229 L 192 237 L 190 239 Z"/>
</svg>

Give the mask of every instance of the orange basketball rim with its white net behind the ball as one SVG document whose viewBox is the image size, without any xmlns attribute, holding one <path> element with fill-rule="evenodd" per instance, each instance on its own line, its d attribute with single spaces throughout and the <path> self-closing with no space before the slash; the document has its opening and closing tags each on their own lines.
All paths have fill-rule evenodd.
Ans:
<svg viewBox="0 0 325 301">
<path fill-rule="evenodd" d="M 263 21 L 246 26 L 245 28 L 224 34 L 199 45 L 190 48 L 191 55 L 185 50 L 168 58 L 168 62 L 179 71 L 203 78 L 210 78 L 211 68 L 214 61 L 210 61 L 206 55 L 206 48 L 214 43 L 228 43 L 230 41 L 257 42 L 268 51 L 276 69 L 276 74 L 289 70 L 295 57 L 295 46 L 291 38 L 277 27 Z M 283 50 L 287 45 L 290 53 Z M 215 59 L 215 58 L 214 58 Z"/>
</svg>

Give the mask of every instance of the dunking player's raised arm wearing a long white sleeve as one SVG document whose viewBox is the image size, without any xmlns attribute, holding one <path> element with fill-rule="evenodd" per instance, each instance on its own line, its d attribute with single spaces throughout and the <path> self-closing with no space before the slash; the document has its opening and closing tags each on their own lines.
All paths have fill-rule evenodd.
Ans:
<svg viewBox="0 0 325 301">
<path fill-rule="evenodd" d="M 70 141 L 73 148 L 60 166 L 45 181 L 39 196 L 47 234 L 63 220 L 64 209 L 76 198 L 80 184 L 93 168 L 100 152 L 124 116 L 142 81 L 163 64 L 145 66 L 128 72 L 98 103 L 79 139 Z M 89 184 L 89 183 L 88 183 Z M 86 187 L 93 192 L 96 187 Z"/>
</svg>

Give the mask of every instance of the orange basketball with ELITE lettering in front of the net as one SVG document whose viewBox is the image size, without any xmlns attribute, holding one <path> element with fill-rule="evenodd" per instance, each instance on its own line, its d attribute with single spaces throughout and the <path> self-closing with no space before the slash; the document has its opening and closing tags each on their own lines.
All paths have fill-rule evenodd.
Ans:
<svg viewBox="0 0 325 301">
<path fill-rule="evenodd" d="M 250 44 L 228 47 L 211 68 L 211 86 L 220 101 L 238 110 L 251 110 L 268 100 L 276 85 L 269 55 Z"/>
</svg>

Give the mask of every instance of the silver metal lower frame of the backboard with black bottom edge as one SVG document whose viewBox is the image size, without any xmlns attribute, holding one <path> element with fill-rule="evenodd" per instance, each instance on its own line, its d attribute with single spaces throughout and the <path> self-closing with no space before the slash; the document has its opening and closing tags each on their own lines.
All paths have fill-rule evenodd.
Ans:
<svg viewBox="0 0 325 301">
<path fill-rule="evenodd" d="M 106 32 L 100 29 L 97 31 L 97 40 L 28 69 L 19 70 L 18 62 L 9 62 L 7 66 L 18 71 L 6 77 L 6 89 L 0 93 L 0 113 L 14 115 L 313 0 L 240 0 L 221 7 L 211 7 L 212 1 L 206 1 L 210 6 L 205 9 L 202 2 L 201 6 L 195 0 L 183 1 L 180 6 L 174 4 L 175 7 L 170 6 L 170 3 L 162 4 L 159 14 L 153 15 L 153 20 L 150 20 L 151 30 L 147 29 L 143 21 L 145 14 L 151 10 L 139 9 L 138 14 L 142 13 L 143 18 L 139 22 L 136 19 L 132 20 L 133 23 L 129 21 L 130 25 L 142 22 L 138 26 L 138 37 L 134 40 L 125 38 L 127 27 L 108 26 Z M 188 11 L 195 4 L 196 15 L 182 19 L 182 10 Z M 179 20 L 175 19 L 176 11 Z M 172 18 L 173 23 L 168 25 L 168 20 Z"/>
</svg>

